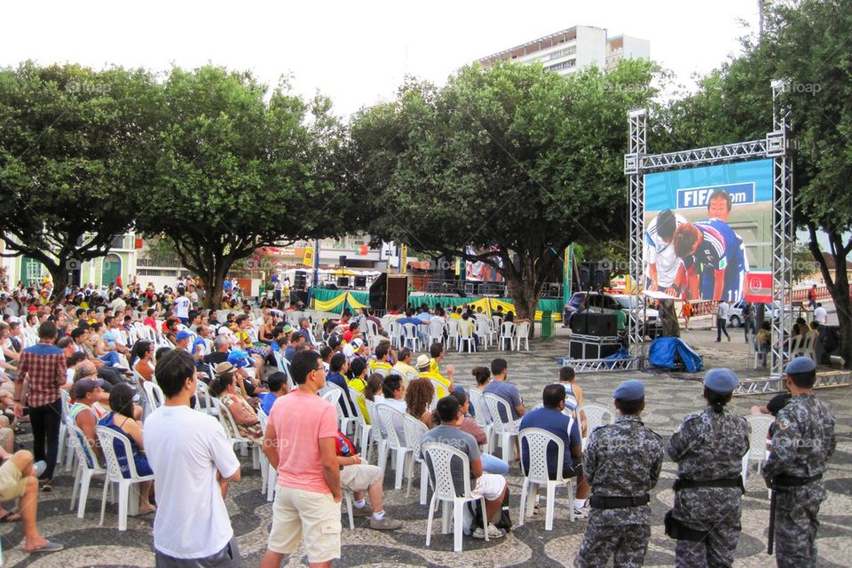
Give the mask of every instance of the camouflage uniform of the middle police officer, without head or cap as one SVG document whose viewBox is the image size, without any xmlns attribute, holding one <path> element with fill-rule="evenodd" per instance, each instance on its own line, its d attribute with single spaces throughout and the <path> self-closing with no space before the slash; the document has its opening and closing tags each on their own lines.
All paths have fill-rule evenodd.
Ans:
<svg viewBox="0 0 852 568">
<path fill-rule="evenodd" d="M 707 407 L 689 414 L 668 441 L 666 453 L 677 462 L 681 479 L 734 479 L 748 452 L 746 421 L 724 410 Z M 730 566 L 739 540 L 743 493 L 739 487 L 691 487 L 675 492 L 673 517 L 707 533 L 704 540 L 677 540 L 675 566 Z"/>
</svg>

